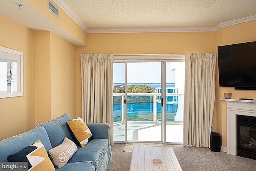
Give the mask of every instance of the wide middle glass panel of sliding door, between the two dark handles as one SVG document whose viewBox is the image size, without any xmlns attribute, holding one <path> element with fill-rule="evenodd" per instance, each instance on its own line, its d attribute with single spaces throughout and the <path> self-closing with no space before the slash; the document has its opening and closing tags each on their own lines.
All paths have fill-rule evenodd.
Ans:
<svg viewBox="0 0 256 171">
<path fill-rule="evenodd" d="M 162 141 L 161 62 L 127 63 L 127 141 Z"/>
</svg>

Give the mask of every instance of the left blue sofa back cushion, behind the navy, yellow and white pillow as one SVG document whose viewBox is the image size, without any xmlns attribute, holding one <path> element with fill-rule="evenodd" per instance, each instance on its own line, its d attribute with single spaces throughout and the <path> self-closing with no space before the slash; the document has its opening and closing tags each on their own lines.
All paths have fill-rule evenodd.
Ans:
<svg viewBox="0 0 256 171">
<path fill-rule="evenodd" d="M 0 141 L 0 162 L 7 162 L 8 155 L 14 154 L 21 149 L 32 145 L 38 139 L 42 142 L 47 152 L 52 149 L 52 145 L 44 127 L 36 127 L 20 135 Z"/>
</svg>

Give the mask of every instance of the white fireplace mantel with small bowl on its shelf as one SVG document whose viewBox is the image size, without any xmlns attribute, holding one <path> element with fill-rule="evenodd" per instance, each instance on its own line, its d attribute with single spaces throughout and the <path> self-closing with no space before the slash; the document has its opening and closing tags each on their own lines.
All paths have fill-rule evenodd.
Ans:
<svg viewBox="0 0 256 171">
<path fill-rule="evenodd" d="M 236 155 L 236 115 L 256 117 L 256 100 L 220 100 L 227 103 L 227 153 Z"/>
</svg>

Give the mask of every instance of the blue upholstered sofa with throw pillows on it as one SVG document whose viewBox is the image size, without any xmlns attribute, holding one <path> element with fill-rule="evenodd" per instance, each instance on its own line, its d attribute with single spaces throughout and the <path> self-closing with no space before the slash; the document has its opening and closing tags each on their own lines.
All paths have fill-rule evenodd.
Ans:
<svg viewBox="0 0 256 171">
<path fill-rule="evenodd" d="M 32 130 L 0 141 L 0 162 L 7 162 L 7 156 L 24 147 L 32 145 L 38 139 L 43 143 L 46 151 L 60 145 L 65 137 L 73 141 L 66 121 L 71 121 L 68 114 L 64 114 L 51 121 L 36 125 Z M 56 171 L 106 171 L 110 165 L 112 154 L 110 147 L 110 125 L 107 123 L 86 123 L 92 132 L 93 139 L 78 151 L 62 167 L 55 167 Z"/>
</svg>

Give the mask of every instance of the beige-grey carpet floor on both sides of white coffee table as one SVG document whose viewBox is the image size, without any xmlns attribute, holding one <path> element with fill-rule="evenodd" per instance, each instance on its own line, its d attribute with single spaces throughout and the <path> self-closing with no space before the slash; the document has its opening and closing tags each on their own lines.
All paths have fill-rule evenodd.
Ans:
<svg viewBox="0 0 256 171">
<path fill-rule="evenodd" d="M 124 152 L 124 145 L 114 143 L 112 162 L 107 171 L 129 171 L 132 153 Z M 224 152 L 212 152 L 209 148 L 172 147 L 183 171 L 256 171 L 256 160 L 229 155 Z"/>
</svg>

